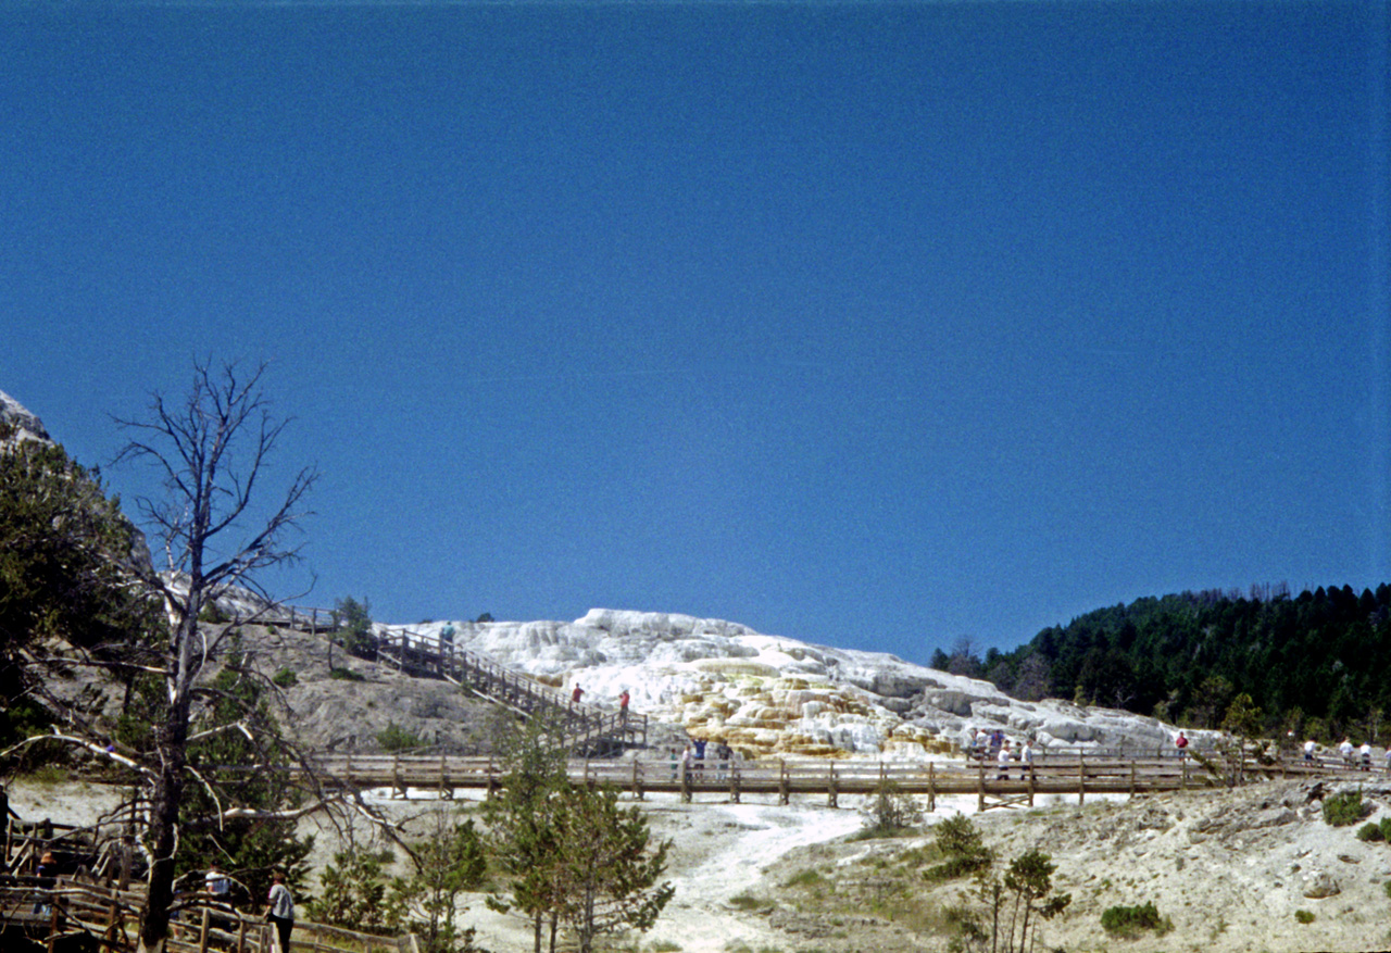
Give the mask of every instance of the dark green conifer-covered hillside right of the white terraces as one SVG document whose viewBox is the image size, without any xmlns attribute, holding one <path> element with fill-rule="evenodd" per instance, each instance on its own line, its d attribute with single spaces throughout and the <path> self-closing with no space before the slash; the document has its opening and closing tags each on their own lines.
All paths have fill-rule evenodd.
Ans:
<svg viewBox="0 0 1391 953">
<path fill-rule="evenodd" d="M 1391 586 L 1142 598 L 1045 629 L 1013 652 L 939 651 L 942 664 L 976 664 L 1020 697 L 1071 697 L 1196 728 L 1217 726 L 1246 693 L 1269 732 L 1385 742 Z"/>
</svg>

